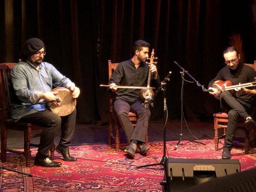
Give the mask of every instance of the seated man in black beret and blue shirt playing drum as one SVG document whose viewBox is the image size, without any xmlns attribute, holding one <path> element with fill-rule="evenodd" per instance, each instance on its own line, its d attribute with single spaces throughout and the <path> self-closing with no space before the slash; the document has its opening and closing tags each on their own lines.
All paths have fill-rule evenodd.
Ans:
<svg viewBox="0 0 256 192">
<path fill-rule="evenodd" d="M 11 71 L 14 92 L 22 104 L 55 100 L 58 92 L 52 92 L 52 86 L 68 88 L 72 92 L 73 98 L 80 94 L 79 88 L 73 82 L 57 71 L 53 65 L 43 62 L 45 54 L 45 45 L 38 38 L 28 39 L 22 47 L 20 62 Z M 55 102 L 53 105 L 61 104 Z M 61 139 L 56 151 L 63 156 L 65 161 L 77 160 L 69 154 L 69 145 L 75 127 L 75 109 L 70 115 L 60 117 L 45 105 L 37 104 L 12 109 L 11 116 L 14 121 L 33 123 L 44 127 L 35 157 L 35 165 L 60 167 L 61 162 L 49 159 L 50 144 L 60 129 Z"/>
</svg>

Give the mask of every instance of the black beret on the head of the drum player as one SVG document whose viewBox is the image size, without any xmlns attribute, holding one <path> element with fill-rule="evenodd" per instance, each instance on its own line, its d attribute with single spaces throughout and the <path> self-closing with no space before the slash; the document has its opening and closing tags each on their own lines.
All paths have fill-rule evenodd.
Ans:
<svg viewBox="0 0 256 192">
<path fill-rule="evenodd" d="M 41 39 L 30 38 L 24 43 L 21 49 L 20 59 L 25 61 L 29 56 L 35 54 L 37 51 L 44 47 L 45 44 Z"/>
</svg>

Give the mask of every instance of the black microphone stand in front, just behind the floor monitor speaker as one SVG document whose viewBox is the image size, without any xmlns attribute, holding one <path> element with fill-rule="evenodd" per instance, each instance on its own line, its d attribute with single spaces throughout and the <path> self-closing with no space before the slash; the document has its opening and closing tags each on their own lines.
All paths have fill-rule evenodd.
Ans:
<svg viewBox="0 0 256 192">
<path fill-rule="evenodd" d="M 161 86 L 158 87 L 156 93 L 154 96 L 151 98 L 153 100 L 155 96 L 157 95 L 159 90 L 163 91 L 163 98 L 164 98 L 164 127 L 163 127 L 163 156 L 162 159 L 159 163 L 154 163 L 154 164 L 149 164 L 149 165 L 143 165 L 143 166 L 136 166 L 136 168 L 145 168 L 145 167 L 150 167 L 150 166 L 156 166 L 156 165 L 162 165 L 164 166 L 167 157 L 166 157 L 166 123 L 168 119 L 168 110 L 167 110 L 167 105 L 166 105 L 166 84 L 167 81 L 170 81 L 169 76 L 171 75 L 171 72 L 167 74 L 167 76 L 164 78 L 164 80 L 161 82 Z"/>
</svg>

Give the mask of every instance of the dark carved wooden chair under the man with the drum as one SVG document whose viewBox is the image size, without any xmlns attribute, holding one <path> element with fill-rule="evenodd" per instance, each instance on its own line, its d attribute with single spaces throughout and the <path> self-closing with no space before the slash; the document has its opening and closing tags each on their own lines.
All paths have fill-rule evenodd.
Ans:
<svg viewBox="0 0 256 192">
<path fill-rule="evenodd" d="M 8 112 L 11 108 L 15 94 L 12 91 L 10 81 L 10 72 L 16 63 L 1 63 L 0 64 L 0 125 L 1 125 L 1 161 L 6 162 L 6 153 L 12 152 L 24 155 L 26 159 L 26 166 L 30 166 L 31 151 L 30 141 L 32 138 L 40 136 L 40 134 L 32 134 L 34 130 L 41 130 L 43 127 L 31 123 L 17 123 L 14 122 Z M 7 130 L 17 130 L 24 132 L 24 151 L 7 148 Z M 51 144 L 50 158 L 54 158 L 55 145 Z"/>
</svg>

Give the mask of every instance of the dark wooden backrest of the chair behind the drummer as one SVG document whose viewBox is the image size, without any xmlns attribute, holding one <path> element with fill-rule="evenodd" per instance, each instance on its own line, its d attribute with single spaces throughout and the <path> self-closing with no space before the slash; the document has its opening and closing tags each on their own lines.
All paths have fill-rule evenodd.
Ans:
<svg viewBox="0 0 256 192">
<path fill-rule="evenodd" d="M 0 63 L 0 119 L 9 118 L 8 109 L 12 105 L 14 92 L 11 84 L 11 70 L 17 63 Z"/>
</svg>

